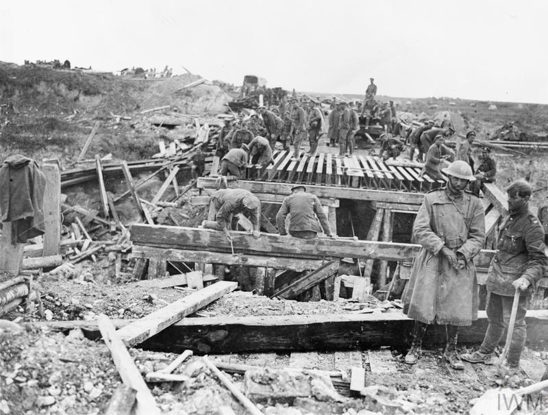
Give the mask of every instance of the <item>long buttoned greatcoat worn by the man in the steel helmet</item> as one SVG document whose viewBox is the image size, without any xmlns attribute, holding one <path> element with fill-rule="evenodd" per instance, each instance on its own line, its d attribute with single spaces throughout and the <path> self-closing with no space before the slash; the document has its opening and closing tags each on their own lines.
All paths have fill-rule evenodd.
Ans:
<svg viewBox="0 0 548 415">
<path fill-rule="evenodd" d="M 458 209 L 445 188 L 427 193 L 413 225 L 414 242 L 422 248 L 403 292 L 403 312 L 422 323 L 467 326 L 477 320 L 473 257 L 485 240 L 484 209 L 469 192 L 455 203 Z M 453 268 L 440 252 L 444 246 L 462 253 L 466 268 Z"/>
</svg>

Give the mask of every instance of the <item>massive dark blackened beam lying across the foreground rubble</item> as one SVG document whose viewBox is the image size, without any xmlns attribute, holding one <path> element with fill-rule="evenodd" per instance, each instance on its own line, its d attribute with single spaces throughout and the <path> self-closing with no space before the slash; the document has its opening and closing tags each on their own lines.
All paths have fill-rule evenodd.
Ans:
<svg viewBox="0 0 548 415">
<path fill-rule="evenodd" d="M 527 341 L 548 341 L 548 310 L 528 310 Z M 122 327 L 132 320 L 113 320 Z M 95 321 L 38 322 L 51 329 L 81 328 L 86 337 L 100 338 Z M 460 343 L 479 343 L 488 321 L 486 312 L 469 327 L 461 327 Z M 373 314 L 314 314 L 245 317 L 187 317 L 142 343 L 143 349 L 182 353 L 266 353 L 271 351 L 352 350 L 404 346 L 410 340 L 413 320 L 401 312 Z M 432 331 L 430 331 L 432 330 Z M 432 325 L 425 342 L 444 344 L 445 327 Z"/>
</svg>

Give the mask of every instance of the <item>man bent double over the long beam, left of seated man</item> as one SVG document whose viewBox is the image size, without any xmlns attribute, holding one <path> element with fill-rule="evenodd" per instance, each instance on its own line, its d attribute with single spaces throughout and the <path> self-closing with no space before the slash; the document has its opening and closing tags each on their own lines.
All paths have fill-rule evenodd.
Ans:
<svg viewBox="0 0 548 415">
<path fill-rule="evenodd" d="M 251 224 L 253 231 L 251 234 L 258 238 L 259 231 L 259 214 L 261 203 L 259 199 L 243 189 L 221 189 L 216 190 L 211 195 L 210 201 L 210 217 L 215 216 L 214 221 L 203 221 L 201 225 L 206 229 L 216 229 L 224 231 L 228 240 L 232 241 L 229 233 L 230 225 L 232 224 L 232 216 L 238 213 L 244 214 Z"/>
</svg>

